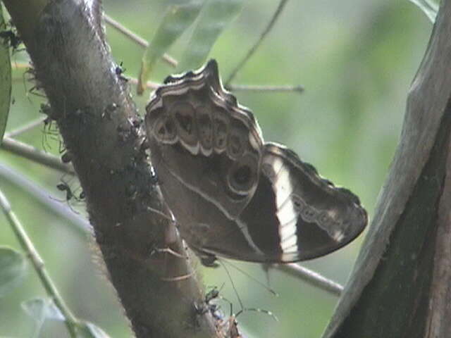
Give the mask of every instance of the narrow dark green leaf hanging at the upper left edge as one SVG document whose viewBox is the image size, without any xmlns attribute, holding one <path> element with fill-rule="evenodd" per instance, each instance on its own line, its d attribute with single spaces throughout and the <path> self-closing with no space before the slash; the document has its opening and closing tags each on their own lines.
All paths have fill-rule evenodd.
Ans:
<svg viewBox="0 0 451 338">
<path fill-rule="evenodd" d="M 3 12 L 0 6 L 0 27 L 6 27 Z M 11 104 L 11 61 L 9 48 L 0 38 L 0 144 L 6 130 L 9 107 Z M 1 290 L 0 290 L 1 292 Z"/>
</svg>

